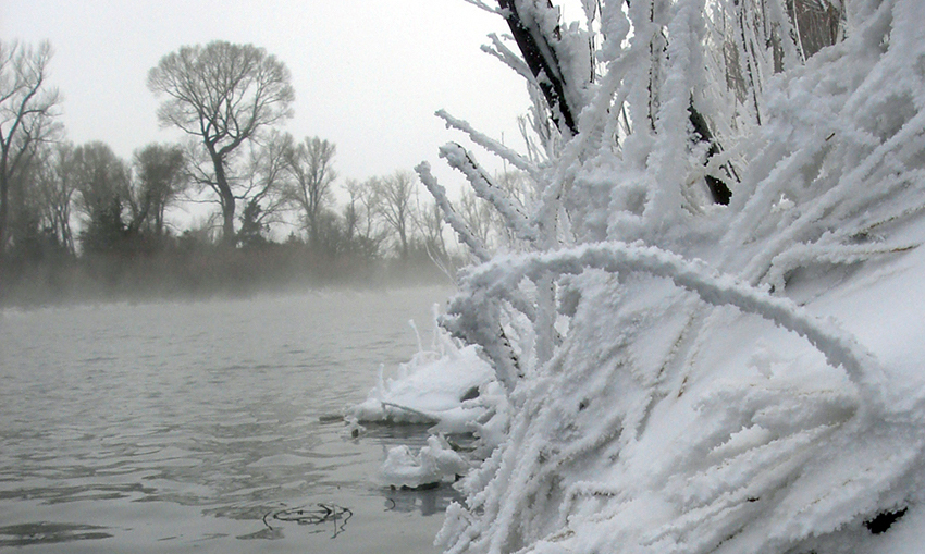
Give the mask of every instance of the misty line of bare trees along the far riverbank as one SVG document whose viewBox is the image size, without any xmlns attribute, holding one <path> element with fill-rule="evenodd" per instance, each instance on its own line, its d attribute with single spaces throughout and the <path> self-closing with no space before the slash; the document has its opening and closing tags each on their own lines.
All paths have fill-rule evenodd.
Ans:
<svg viewBox="0 0 925 554">
<path fill-rule="evenodd" d="M 417 175 L 342 183 L 332 141 L 281 131 L 294 91 L 263 49 L 214 41 L 164 56 L 148 88 L 161 126 L 186 138 L 131 160 L 102 141 L 66 140 L 51 54 L 48 42 L 0 41 L 0 303 L 370 282 L 453 266 Z M 484 209 L 468 201 L 479 218 Z M 171 209 L 194 202 L 212 210 L 176 226 Z"/>
</svg>

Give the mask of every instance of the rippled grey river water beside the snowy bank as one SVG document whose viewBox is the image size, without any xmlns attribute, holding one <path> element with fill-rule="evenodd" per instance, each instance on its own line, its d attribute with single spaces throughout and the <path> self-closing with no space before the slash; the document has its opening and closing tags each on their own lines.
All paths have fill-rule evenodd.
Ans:
<svg viewBox="0 0 925 554">
<path fill-rule="evenodd" d="M 378 482 L 330 417 L 445 288 L 0 312 L 0 550 L 431 553 L 449 488 Z"/>
</svg>

